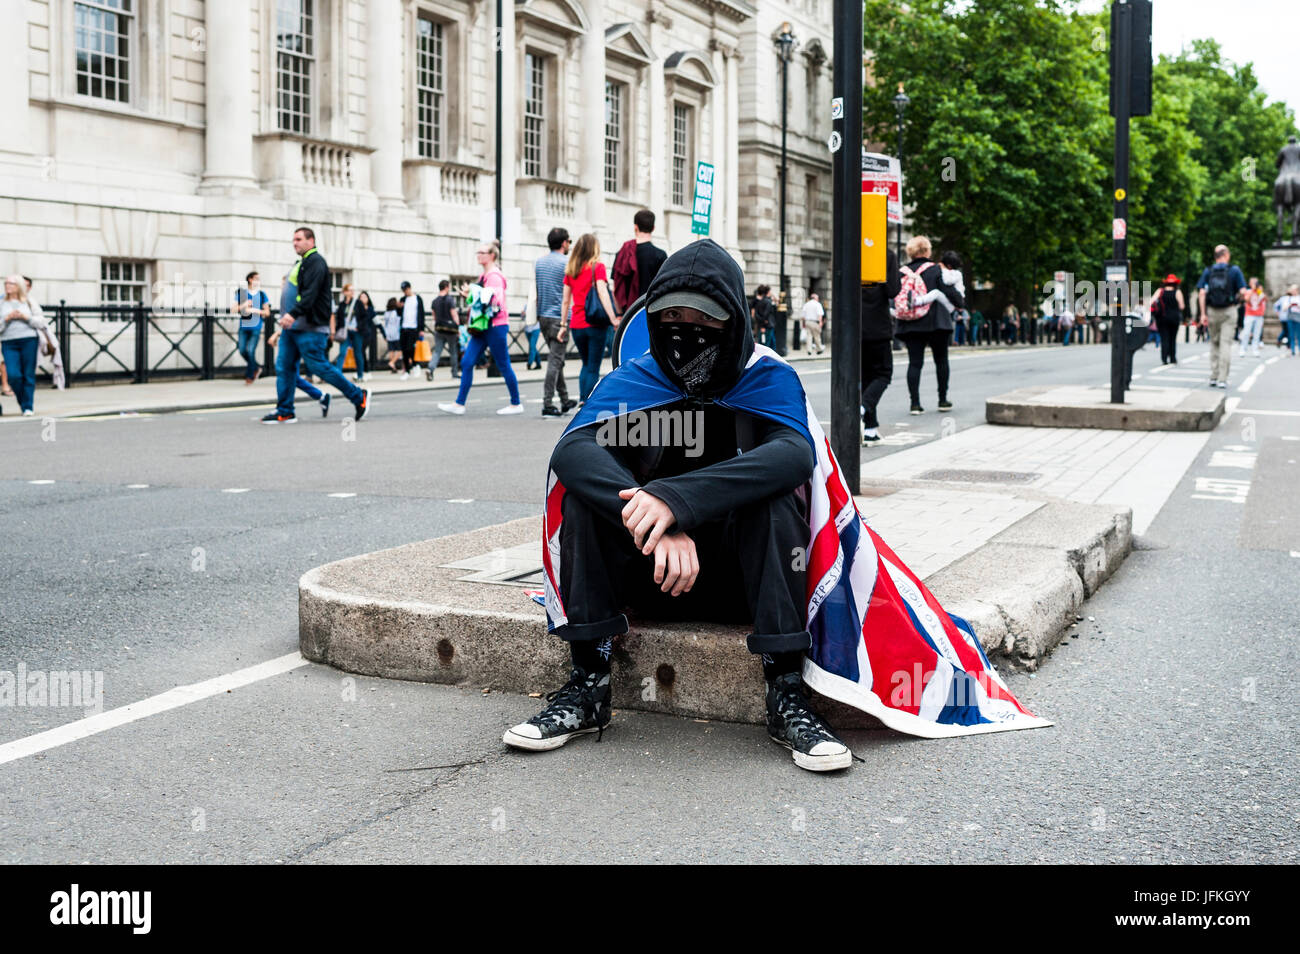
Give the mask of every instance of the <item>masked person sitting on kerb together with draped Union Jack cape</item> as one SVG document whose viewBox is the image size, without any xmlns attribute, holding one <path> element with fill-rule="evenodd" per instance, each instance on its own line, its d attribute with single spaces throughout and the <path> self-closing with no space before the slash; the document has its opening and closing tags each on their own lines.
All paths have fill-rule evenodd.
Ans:
<svg viewBox="0 0 1300 954">
<path fill-rule="evenodd" d="M 670 256 L 646 292 L 650 351 L 601 381 L 555 446 L 543 519 L 546 612 L 550 630 L 569 643 L 572 671 L 550 704 L 503 741 L 540 751 L 603 733 L 610 656 L 628 632 L 628 607 L 645 617 L 751 623 L 768 734 L 810 771 L 848 768 L 853 754 L 809 707 L 806 677 L 915 734 L 936 721 L 931 734 L 1046 724 L 1000 681 L 983 711 L 900 706 L 896 717 L 878 697 L 867 699 L 859 681 L 870 682 L 870 667 L 857 660 L 871 650 L 862 624 L 868 603 L 894 668 L 913 659 L 942 665 L 926 649 L 936 639 L 985 681 L 992 668 L 956 624 L 918 633 L 897 591 L 872 589 L 872 558 L 901 561 L 861 522 L 797 374 L 754 344 L 744 289 L 740 268 L 712 240 Z M 894 572 L 905 571 L 881 569 L 890 582 Z M 933 600 L 914 577 L 905 585 Z M 962 650 L 950 639 L 963 641 Z"/>
</svg>

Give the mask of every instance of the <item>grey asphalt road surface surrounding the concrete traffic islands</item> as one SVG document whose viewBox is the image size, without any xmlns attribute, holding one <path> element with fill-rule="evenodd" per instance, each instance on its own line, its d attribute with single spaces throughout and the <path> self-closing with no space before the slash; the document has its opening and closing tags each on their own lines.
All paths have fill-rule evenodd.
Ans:
<svg viewBox="0 0 1300 954">
<path fill-rule="evenodd" d="M 1153 364 L 1148 348 L 1138 372 Z M 1235 364 L 1234 386 L 1254 367 Z M 826 364 L 800 367 L 828 420 Z M 953 369 L 949 426 L 966 428 L 991 394 L 1104 382 L 1106 350 Z M 884 433 L 935 439 L 904 370 Z M 863 762 L 820 777 L 758 727 L 619 712 L 599 743 L 525 756 L 499 738 L 536 699 L 306 665 L 0 764 L 0 860 L 1295 863 L 1297 370 L 1230 391 L 1239 413 L 1078 638 L 1010 676 L 1054 728 L 845 733 Z M 52 441 L 0 428 L 0 669 L 99 671 L 122 706 L 295 651 L 315 565 L 536 512 L 563 425 L 490 413 L 499 383 L 463 419 L 438 399 L 381 399 L 355 429 L 250 409 L 60 422 Z M 0 743 L 81 715 L 0 706 Z"/>
</svg>

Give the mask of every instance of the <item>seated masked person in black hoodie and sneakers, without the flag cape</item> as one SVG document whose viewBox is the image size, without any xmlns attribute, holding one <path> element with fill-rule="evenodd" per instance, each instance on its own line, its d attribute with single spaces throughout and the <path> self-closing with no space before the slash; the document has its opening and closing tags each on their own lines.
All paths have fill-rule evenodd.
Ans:
<svg viewBox="0 0 1300 954">
<path fill-rule="evenodd" d="M 768 733 L 801 768 L 848 768 L 852 753 L 809 708 L 801 675 L 812 643 L 800 556 L 812 448 L 789 425 L 718 403 L 754 352 L 744 276 L 718 243 L 692 242 L 650 285 L 646 316 L 650 356 L 681 398 L 572 426 L 555 446 L 566 623 L 554 632 L 573 668 L 503 741 L 542 751 L 604 730 L 612 639 L 628 632 L 630 606 L 651 619 L 753 623 Z M 638 380 L 641 360 L 597 390 Z"/>
</svg>

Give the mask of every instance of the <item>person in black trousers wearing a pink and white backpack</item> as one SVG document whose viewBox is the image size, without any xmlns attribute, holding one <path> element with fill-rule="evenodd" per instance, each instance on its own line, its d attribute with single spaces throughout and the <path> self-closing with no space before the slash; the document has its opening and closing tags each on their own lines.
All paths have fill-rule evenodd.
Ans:
<svg viewBox="0 0 1300 954">
<path fill-rule="evenodd" d="M 941 278 L 941 269 L 930 255 L 930 239 L 924 235 L 907 243 L 910 261 L 900 269 L 902 287 L 894 298 L 896 337 L 907 348 L 907 394 L 914 415 L 926 412 L 920 406 L 920 369 L 927 346 L 939 377 L 939 409 L 953 409 L 948 400 L 948 341 L 953 334 L 953 312 L 966 307 L 959 286 Z"/>
</svg>

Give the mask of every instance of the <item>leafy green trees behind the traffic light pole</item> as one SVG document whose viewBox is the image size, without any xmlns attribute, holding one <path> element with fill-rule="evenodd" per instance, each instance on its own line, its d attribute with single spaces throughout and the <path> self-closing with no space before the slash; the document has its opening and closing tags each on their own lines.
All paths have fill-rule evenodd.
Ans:
<svg viewBox="0 0 1300 954">
<path fill-rule="evenodd" d="M 867 0 L 864 23 L 866 136 L 893 151 L 898 82 L 911 99 L 913 230 L 962 252 L 994 283 L 994 307 L 1028 304 L 1054 269 L 1097 276 L 1112 252 L 1109 13 L 1058 0 Z M 1258 269 L 1271 243 L 1273 157 L 1294 116 L 1265 103 L 1251 68 L 1223 62 L 1212 42 L 1162 58 L 1152 116 L 1130 129 L 1135 278 L 1186 272 L 1218 242 Z"/>
</svg>

